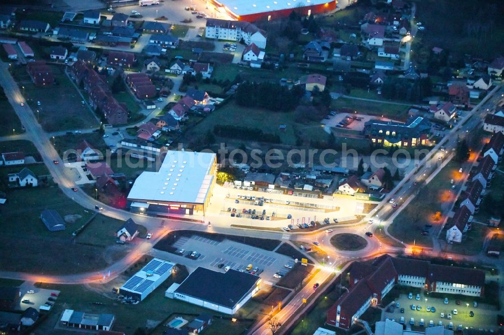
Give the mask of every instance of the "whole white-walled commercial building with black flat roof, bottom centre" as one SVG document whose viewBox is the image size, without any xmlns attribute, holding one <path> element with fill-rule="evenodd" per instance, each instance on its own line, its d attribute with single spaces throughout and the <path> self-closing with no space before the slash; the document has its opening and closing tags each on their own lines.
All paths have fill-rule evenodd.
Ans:
<svg viewBox="0 0 504 335">
<path fill-rule="evenodd" d="M 173 283 L 165 296 L 234 314 L 259 291 L 260 284 L 261 277 L 246 272 L 234 269 L 219 272 L 198 267 L 181 284 Z"/>
</svg>

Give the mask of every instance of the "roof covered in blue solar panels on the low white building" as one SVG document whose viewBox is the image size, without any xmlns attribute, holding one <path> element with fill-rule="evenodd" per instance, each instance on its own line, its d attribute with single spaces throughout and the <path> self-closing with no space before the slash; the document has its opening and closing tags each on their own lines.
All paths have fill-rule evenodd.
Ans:
<svg viewBox="0 0 504 335">
<path fill-rule="evenodd" d="M 161 280 L 161 277 L 171 271 L 174 266 L 175 263 L 154 258 L 142 270 L 125 282 L 120 287 L 120 290 L 142 294 L 158 280 Z M 164 281 L 165 279 L 162 280 Z"/>
</svg>

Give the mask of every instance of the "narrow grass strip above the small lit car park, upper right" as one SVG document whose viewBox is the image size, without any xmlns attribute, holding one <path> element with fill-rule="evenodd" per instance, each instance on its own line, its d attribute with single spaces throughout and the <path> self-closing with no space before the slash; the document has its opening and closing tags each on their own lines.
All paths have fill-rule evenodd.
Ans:
<svg viewBox="0 0 504 335">
<path fill-rule="evenodd" d="M 331 108 L 350 108 L 354 111 L 357 111 L 357 113 L 376 116 L 383 115 L 385 117 L 399 121 L 406 121 L 409 109 L 408 106 L 387 104 L 386 102 L 379 103 L 374 101 L 362 101 L 346 98 L 338 98 L 337 100 L 333 100 L 331 103 Z"/>
</svg>

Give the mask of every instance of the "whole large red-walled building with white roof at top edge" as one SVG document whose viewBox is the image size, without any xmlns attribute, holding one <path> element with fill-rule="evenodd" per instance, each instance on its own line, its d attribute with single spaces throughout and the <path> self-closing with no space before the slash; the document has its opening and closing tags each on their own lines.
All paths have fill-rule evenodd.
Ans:
<svg viewBox="0 0 504 335">
<path fill-rule="evenodd" d="M 233 20 L 254 22 L 285 18 L 294 11 L 301 16 L 328 13 L 336 10 L 338 2 L 336 0 L 329 2 L 327 0 L 209 0 L 208 3 L 213 5 L 217 12 L 227 14 Z"/>
</svg>

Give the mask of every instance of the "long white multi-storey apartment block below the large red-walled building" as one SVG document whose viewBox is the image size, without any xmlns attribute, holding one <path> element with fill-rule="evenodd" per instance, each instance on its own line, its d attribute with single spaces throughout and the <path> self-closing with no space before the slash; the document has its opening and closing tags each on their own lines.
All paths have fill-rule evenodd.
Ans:
<svg viewBox="0 0 504 335">
<path fill-rule="evenodd" d="M 228 41 L 241 41 L 246 45 L 255 43 L 259 48 L 266 48 L 266 32 L 246 21 L 207 19 L 205 37 Z"/>
</svg>

